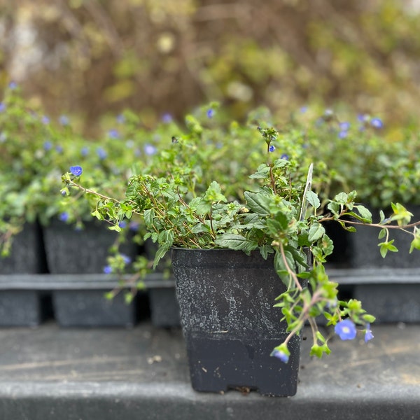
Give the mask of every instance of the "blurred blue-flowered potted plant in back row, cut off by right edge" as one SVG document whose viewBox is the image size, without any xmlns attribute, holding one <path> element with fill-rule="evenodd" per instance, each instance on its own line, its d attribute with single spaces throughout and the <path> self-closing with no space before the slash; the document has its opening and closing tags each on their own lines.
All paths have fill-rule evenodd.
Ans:
<svg viewBox="0 0 420 420">
<path fill-rule="evenodd" d="M 418 132 L 413 127 L 386 127 L 369 114 L 354 118 L 328 110 L 321 118 L 318 115 L 311 111 L 298 115 L 295 127 L 307 138 L 307 153 L 328 166 L 332 192 L 356 189 L 358 200 L 375 221 L 381 220 L 381 208 L 386 214 L 393 212 L 392 202 L 403 204 L 419 220 Z M 402 230 L 380 232 L 389 245 L 385 249 L 377 246 L 377 237 L 367 226 L 347 235 L 334 226 L 326 226 L 335 242 L 335 252 L 328 259 L 331 273 L 351 279 L 353 296 L 366 302 L 368 311 L 376 310 L 377 321 L 419 322 L 420 260 L 409 252 L 409 236 Z M 394 243 L 402 252 L 395 253 Z M 381 253 L 385 251 L 391 252 L 384 259 Z M 377 293 L 378 283 L 381 293 Z"/>
</svg>

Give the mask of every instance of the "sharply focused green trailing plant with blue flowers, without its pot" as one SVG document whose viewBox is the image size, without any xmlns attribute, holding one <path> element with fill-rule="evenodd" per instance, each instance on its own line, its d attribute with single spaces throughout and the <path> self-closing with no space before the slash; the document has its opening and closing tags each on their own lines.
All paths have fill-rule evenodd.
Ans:
<svg viewBox="0 0 420 420">
<path fill-rule="evenodd" d="M 92 214 L 111 223 L 115 230 L 122 221 L 139 216 L 146 232 L 144 239 L 151 238 L 158 244 L 155 266 L 172 246 L 230 248 L 245 253 L 259 250 L 264 258 L 274 254 L 274 268 L 286 291 L 273 303 L 287 321 L 289 335 L 272 356 L 284 363 L 290 354 L 288 342 L 300 334 L 305 323 L 312 330 L 311 355 L 330 353 L 328 340 L 316 325 L 318 316 L 334 325 L 341 339 L 353 339 L 358 330 L 365 333 L 366 341 L 372 339 L 370 324 L 374 316 L 367 314 L 358 300 L 339 300 L 338 285 L 325 272 L 324 263 L 333 244 L 323 223 L 335 221 L 349 231 L 358 225 L 377 228 L 380 250 L 386 255 L 396 250 L 388 240 L 392 229 L 412 235 L 412 250 L 420 249 L 420 222 L 411 223 L 412 214 L 393 204 L 393 214 L 386 217 L 381 213 L 381 219 L 373 223 L 370 211 L 356 202 L 354 191 L 335 195 L 328 200 L 325 211 L 311 189 L 312 165 L 304 168 L 307 176 L 302 178 L 299 162 L 274 146 L 279 133 L 272 127 L 258 130 L 267 161 L 251 175 L 255 188 L 245 190 L 242 200 L 228 200 L 216 180 L 203 190 L 197 183 L 197 173 L 188 166 L 165 176 L 153 170 L 132 176 L 125 198 L 120 200 L 83 186 L 83 169 L 71 167 L 62 177 L 62 193 L 78 190 L 90 195 L 95 201 Z M 187 140 L 172 143 L 172 153 L 176 154 L 176 148 L 183 150 L 183 141 Z"/>
</svg>

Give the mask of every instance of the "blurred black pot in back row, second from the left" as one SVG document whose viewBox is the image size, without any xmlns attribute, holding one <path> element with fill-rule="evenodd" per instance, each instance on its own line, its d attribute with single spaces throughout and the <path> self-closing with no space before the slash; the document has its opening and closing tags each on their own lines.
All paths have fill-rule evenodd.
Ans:
<svg viewBox="0 0 420 420">
<path fill-rule="evenodd" d="M 78 281 L 77 290 L 57 288 L 52 290 L 52 307 L 59 325 L 65 327 L 132 326 L 137 323 L 136 302 L 125 304 L 118 295 L 106 300 L 109 289 L 83 287 L 77 274 L 100 274 L 106 265 L 109 248 L 117 233 L 97 221 L 85 223 L 82 230 L 60 221 L 52 221 L 44 229 L 45 251 L 51 274 L 72 274 Z M 137 245 L 129 242 L 122 252 L 135 258 Z M 99 275 L 98 278 L 102 278 Z"/>
</svg>

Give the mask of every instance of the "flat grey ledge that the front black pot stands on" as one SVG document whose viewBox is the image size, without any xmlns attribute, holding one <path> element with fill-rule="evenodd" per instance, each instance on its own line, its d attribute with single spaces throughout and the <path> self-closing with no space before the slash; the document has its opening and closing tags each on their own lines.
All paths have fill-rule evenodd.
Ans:
<svg viewBox="0 0 420 420">
<path fill-rule="evenodd" d="M 308 337 L 297 395 L 268 398 L 193 391 L 178 329 L 2 329 L 0 419 L 418 418 L 420 325 L 373 332 L 368 344 L 332 337 L 322 360 Z"/>
</svg>

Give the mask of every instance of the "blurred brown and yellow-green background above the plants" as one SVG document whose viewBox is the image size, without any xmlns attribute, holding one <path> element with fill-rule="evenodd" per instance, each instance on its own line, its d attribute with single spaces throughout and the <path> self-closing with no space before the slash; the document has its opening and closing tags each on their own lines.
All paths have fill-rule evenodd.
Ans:
<svg viewBox="0 0 420 420">
<path fill-rule="evenodd" d="M 407 124 L 419 117 L 415 4 L 3 1 L 0 87 L 12 78 L 31 105 L 89 134 L 125 108 L 153 127 L 211 100 L 233 118 L 261 104 L 286 115 L 342 102 Z"/>
</svg>

